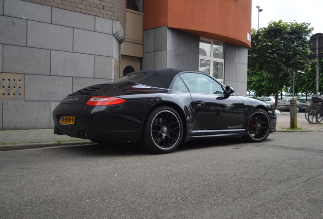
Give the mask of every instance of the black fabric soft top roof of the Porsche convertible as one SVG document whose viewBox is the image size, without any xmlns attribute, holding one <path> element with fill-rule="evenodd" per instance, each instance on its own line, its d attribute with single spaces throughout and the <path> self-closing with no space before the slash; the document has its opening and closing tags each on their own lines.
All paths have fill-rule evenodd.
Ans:
<svg viewBox="0 0 323 219">
<path fill-rule="evenodd" d="M 182 71 L 192 71 L 189 69 L 179 69 L 179 68 L 160 68 L 160 69 L 150 69 L 150 70 L 140 70 L 131 72 L 124 77 L 116 80 L 120 81 L 130 81 L 137 84 L 142 84 L 150 87 L 158 88 L 169 88 L 174 77 Z M 141 74 L 141 77 L 135 77 L 134 75 Z"/>
</svg>

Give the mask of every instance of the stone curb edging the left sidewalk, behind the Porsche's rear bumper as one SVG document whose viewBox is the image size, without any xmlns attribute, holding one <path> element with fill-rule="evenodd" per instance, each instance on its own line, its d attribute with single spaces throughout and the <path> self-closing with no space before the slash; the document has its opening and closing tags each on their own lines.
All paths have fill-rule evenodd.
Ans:
<svg viewBox="0 0 323 219">
<path fill-rule="evenodd" d="M 0 151 L 14 151 L 24 149 L 37 149 L 37 148 L 49 148 L 49 147 L 63 147 L 73 145 L 83 145 L 93 143 L 90 140 L 87 141 L 63 141 L 57 142 L 40 142 L 40 143 L 19 143 L 19 144 L 6 144 L 0 145 Z"/>
</svg>

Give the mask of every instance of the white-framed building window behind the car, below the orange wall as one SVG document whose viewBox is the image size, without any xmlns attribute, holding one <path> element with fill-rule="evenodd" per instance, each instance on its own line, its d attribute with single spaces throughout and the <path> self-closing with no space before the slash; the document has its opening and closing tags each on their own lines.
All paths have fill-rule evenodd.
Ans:
<svg viewBox="0 0 323 219">
<path fill-rule="evenodd" d="M 211 39 L 200 39 L 200 71 L 204 71 L 223 82 L 224 43 Z"/>
</svg>

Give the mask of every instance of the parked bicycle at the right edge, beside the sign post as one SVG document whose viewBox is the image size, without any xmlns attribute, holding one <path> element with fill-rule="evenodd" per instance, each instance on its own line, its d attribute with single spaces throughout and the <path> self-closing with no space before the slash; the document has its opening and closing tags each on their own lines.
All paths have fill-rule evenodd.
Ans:
<svg viewBox="0 0 323 219">
<path fill-rule="evenodd" d="M 305 111 L 305 118 L 309 123 L 317 124 L 323 120 L 323 98 L 312 96 L 312 103 Z"/>
</svg>

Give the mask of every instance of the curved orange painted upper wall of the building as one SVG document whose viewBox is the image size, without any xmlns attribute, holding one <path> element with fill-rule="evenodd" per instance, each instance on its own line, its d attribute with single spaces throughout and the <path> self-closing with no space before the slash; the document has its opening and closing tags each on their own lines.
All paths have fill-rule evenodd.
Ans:
<svg viewBox="0 0 323 219">
<path fill-rule="evenodd" d="M 167 25 L 250 48 L 251 0 L 145 0 L 144 30 Z"/>
</svg>

